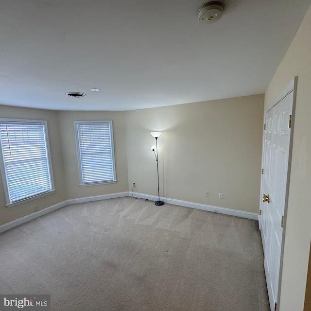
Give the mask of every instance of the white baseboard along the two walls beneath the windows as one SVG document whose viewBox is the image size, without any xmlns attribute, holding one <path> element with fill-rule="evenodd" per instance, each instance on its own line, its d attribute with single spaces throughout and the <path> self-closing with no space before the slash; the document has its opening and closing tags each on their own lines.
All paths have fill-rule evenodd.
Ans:
<svg viewBox="0 0 311 311">
<path fill-rule="evenodd" d="M 100 200 L 106 200 L 106 199 L 114 199 L 114 198 L 121 198 L 124 196 L 128 196 L 128 192 L 118 192 L 118 193 L 111 193 L 111 194 L 103 194 L 103 195 L 96 195 L 96 196 L 88 196 L 85 198 L 78 198 L 78 199 L 69 199 L 60 203 L 57 203 L 53 206 L 46 207 L 44 209 L 38 210 L 35 213 L 32 213 L 30 215 L 26 215 L 24 217 L 18 218 L 16 220 L 13 220 L 12 222 L 9 222 L 4 225 L 0 225 L 0 233 L 4 232 L 6 230 L 12 229 L 16 227 L 17 225 L 21 225 L 24 223 L 27 223 L 35 218 L 38 218 L 40 216 L 43 216 L 45 214 L 48 214 L 52 212 L 53 210 L 56 210 L 61 207 L 65 207 L 69 204 L 78 204 L 78 203 L 85 203 L 85 202 L 91 202 L 91 201 L 100 201 Z"/>
</svg>

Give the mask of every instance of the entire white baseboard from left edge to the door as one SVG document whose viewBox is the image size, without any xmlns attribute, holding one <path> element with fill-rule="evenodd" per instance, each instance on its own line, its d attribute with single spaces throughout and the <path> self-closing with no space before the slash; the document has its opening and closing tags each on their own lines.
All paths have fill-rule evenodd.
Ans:
<svg viewBox="0 0 311 311">
<path fill-rule="evenodd" d="M 137 193 L 137 192 L 133 192 L 133 195 L 137 198 L 157 201 L 157 196 L 154 196 L 154 195 Z M 9 222 L 7 224 L 0 225 L 0 233 L 4 232 L 6 230 L 12 229 L 12 228 L 16 227 L 17 225 L 27 223 L 30 220 L 33 220 L 37 217 L 48 214 L 48 213 L 52 212 L 53 210 L 56 210 L 56 209 L 61 208 L 61 207 L 65 207 L 69 204 L 79 204 L 79 203 L 86 203 L 86 202 L 92 202 L 92 201 L 121 198 L 121 197 L 125 197 L 125 196 L 132 196 L 132 192 L 126 191 L 126 192 L 118 192 L 118 193 L 111 193 L 111 194 L 88 196 L 88 197 L 77 198 L 77 199 L 69 199 L 67 201 L 63 201 L 63 202 L 57 203 L 53 206 L 41 209 L 41 210 L 39 210 L 35 213 L 32 213 L 30 215 L 27 215 L 27 216 L 18 218 L 16 220 L 13 220 L 12 222 Z M 242 210 L 236 210 L 236 209 L 231 209 L 231 208 L 216 207 L 216 206 L 212 206 L 212 205 L 199 204 L 199 203 L 193 203 L 193 202 L 181 201 L 181 200 L 169 199 L 169 198 L 161 198 L 161 199 L 163 200 L 164 203 L 167 203 L 167 204 L 179 205 L 179 206 L 183 206 L 183 207 L 191 207 L 191 208 L 196 208 L 196 209 L 202 209 L 202 210 L 207 210 L 210 212 L 226 214 L 226 215 L 231 215 L 231 216 L 237 216 L 237 217 L 242 217 L 242 218 L 248 218 L 248 219 L 253 219 L 253 220 L 258 220 L 258 216 L 259 216 L 256 213 L 244 212 Z"/>
</svg>

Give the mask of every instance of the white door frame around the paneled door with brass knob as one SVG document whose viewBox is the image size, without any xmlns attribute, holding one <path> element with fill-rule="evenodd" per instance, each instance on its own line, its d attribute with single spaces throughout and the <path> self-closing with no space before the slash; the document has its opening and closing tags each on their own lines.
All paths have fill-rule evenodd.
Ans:
<svg viewBox="0 0 311 311">
<path fill-rule="evenodd" d="M 281 254 L 280 254 L 280 264 L 279 264 L 279 277 L 278 277 L 278 286 L 277 286 L 277 302 L 280 301 L 281 294 L 281 280 L 282 280 L 282 270 L 283 270 L 283 257 L 284 257 L 284 243 L 285 243 L 285 230 L 286 230 L 286 219 L 287 219 L 287 205 L 288 205 L 288 195 L 289 195 L 289 186 L 290 186 L 290 175 L 291 175 L 291 164 L 292 164 L 292 150 L 293 150 L 293 136 L 294 136 L 294 115 L 295 115 L 295 106 L 296 106 L 296 94 L 297 94 L 297 81 L 298 77 L 295 76 L 292 81 L 276 96 L 275 100 L 264 109 L 264 117 L 263 123 L 266 124 L 266 115 L 267 112 L 270 111 L 276 104 L 282 101 L 287 95 L 291 92 L 293 93 L 293 105 L 292 105 L 292 120 L 291 120 L 291 133 L 290 133 L 290 145 L 289 145 L 289 153 L 288 153 L 288 167 L 287 167 L 287 178 L 286 178 L 286 189 L 285 189 L 285 204 L 284 204 L 284 223 L 283 223 L 283 231 L 282 231 L 282 241 L 281 241 Z M 264 126 L 262 127 L 264 129 Z M 264 166 L 264 142 L 265 142 L 265 130 L 263 130 L 262 136 L 262 154 L 261 154 L 261 168 Z M 262 175 L 260 176 L 260 205 L 259 209 L 261 209 L 261 192 L 262 192 Z M 259 230 L 261 232 L 262 224 L 260 220 L 259 213 Z M 261 234 L 260 234 L 261 235 Z M 262 243 L 264 242 L 262 239 Z M 276 310 L 278 310 L 278 305 Z"/>
</svg>

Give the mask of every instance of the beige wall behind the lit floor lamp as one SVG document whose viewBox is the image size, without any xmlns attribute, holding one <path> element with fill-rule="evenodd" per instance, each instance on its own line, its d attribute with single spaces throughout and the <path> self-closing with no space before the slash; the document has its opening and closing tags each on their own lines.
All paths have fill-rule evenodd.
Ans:
<svg viewBox="0 0 311 311">
<path fill-rule="evenodd" d="M 263 95 L 127 112 L 129 188 L 160 196 L 258 213 Z M 208 197 L 204 197 L 204 191 Z M 224 199 L 218 199 L 218 193 Z"/>
</svg>

